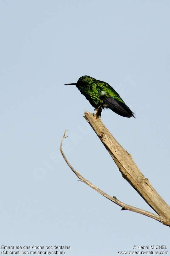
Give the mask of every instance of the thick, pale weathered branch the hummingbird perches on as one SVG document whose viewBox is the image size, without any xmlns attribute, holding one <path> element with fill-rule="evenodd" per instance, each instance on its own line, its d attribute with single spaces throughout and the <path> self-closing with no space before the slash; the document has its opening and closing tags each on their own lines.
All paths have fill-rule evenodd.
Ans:
<svg viewBox="0 0 170 256">
<path fill-rule="evenodd" d="M 170 207 L 156 192 L 149 180 L 144 177 L 133 161 L 132 156 L 111 135 L 99 117 L 85 112 L 84 118 L 91 125 L 101 142 L 115 161 L 119 171 L 139 195 L 156 213 L 170 222 Z"/>
</svg>

